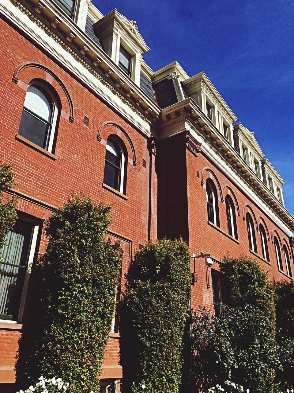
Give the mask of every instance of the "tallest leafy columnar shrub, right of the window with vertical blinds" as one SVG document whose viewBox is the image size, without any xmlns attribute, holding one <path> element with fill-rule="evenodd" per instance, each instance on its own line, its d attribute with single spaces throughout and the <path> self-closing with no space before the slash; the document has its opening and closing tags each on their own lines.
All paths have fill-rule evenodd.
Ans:
<svg viewBox="0 0 294 393">
<path fill-rule="evenodd" d="M 122 260 L 120 243 L 105 242 L 109 211 L 72 195 L 46 223 L 41 299 L 33 310 L 38 330 L 25 365 L 31 383 L 40 375 L 59 376 L 71 392 L 99 391 Z"/>
</svg>

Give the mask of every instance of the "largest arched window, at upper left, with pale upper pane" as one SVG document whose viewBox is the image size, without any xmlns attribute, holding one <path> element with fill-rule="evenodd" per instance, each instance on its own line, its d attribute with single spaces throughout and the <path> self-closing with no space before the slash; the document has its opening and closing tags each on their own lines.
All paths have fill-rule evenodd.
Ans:
<svg viewBox="0 0 294 393">
<path fill-rule="evenodd" d="M 18 135 L 51 152 L 57 119 L 53 95 L 42 84 L 27 88 Z"/>
</svg>

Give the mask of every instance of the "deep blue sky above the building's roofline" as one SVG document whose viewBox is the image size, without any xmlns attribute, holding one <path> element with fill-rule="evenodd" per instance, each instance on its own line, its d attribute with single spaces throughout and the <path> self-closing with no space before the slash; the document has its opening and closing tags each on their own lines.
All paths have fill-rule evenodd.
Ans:
<svg viewBox="0 0 294 393">
<path fill-rule="evenodd" d="M 93 0 L 138 29 L 156 71 L 177 60 L 189 76 L 204 71 L 285 181 L 294 215 L 294 1 Z"/>
</svg>

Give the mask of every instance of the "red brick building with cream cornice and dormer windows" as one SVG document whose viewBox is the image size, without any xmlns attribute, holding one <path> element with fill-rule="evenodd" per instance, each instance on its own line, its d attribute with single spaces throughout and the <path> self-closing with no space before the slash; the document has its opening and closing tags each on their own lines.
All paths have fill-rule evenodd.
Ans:
<svg viewBox="0 0 294 393">
<path fill-rule="evenodd" d="M 89 0 L 2 0 L 0 159 L 13 163 L 18 222 L 2 250 L 0 389 L 13 391 L 44 220 L 82 191 L 113 204 L 121 288 L 135 250 L 183 237 L 194 274 L 191 307 L 218 312 L 218 261 L 260 261 L 292 279 L 294 219 L 283 180 L 204 72 L 176 61 L 153 71 L 136 22 Z M 103 393 L 122 378 L 119 312 L 103 363 Z M 112 390 L 113 391 L 113 390 Z"/>
</svg>

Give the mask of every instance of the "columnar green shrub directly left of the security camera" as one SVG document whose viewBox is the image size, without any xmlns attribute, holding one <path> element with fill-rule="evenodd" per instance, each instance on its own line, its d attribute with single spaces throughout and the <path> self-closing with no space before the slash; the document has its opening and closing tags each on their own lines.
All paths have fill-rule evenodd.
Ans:
<svg viewBox="0 0 294 393">
<path fill-rule="evenodd" d="M 177 393 L 191 296 L 190 253 L 182 240 L 146 243 L 127 276 L 121 362 L 124 391 Z M 134 384 L 133 384 L 134 382 Z"/>
</svg>

